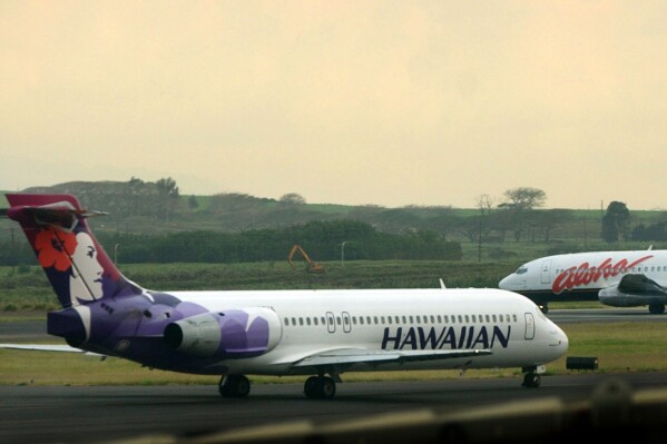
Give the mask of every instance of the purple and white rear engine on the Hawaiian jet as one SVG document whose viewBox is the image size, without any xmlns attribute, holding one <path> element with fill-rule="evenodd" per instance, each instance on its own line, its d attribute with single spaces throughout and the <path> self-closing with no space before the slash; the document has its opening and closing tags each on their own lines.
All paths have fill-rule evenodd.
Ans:
<svg viewBox="0 0 667 444">
<path fill-rule="evenodd" d="M 283 335 L 271 308 L 249 307 L 203 313 L 165 328 L 165 343 L 197 356 L 251 357 L 272 351 Z"/>
</svg>

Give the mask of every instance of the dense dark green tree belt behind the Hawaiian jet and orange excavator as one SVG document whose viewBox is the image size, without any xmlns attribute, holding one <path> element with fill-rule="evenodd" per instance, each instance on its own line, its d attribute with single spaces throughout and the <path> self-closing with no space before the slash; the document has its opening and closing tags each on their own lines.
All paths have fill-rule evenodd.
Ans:
<svg viewBox="0 0 667 444">
<path fill-rule="evenodd" d="M 279 229 L 220 233 L 210 230 L 141 235 L 105 231 L 96 235 L 111 260 L 141 263 L 251 263 L 285 260 L 300 244 L 314 260 L 336 260 L 343 253 L 352 260 L 434 259 L 460 260 L 461 244 L 434 231 L 403 234 L 377 231 L 354 220 L 310 221 Z M 27 241 L 0 243 L 0 265 L 31 265 L 35 256 Z"/>
</svg>

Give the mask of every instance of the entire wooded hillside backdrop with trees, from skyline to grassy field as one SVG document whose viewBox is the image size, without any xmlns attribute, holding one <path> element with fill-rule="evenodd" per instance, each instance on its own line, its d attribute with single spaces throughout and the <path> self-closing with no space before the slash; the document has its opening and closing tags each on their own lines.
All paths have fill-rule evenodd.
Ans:
<svg viewBox="0 0 667 444">
<path fill-rule="evenodd" d="M 316 260 L 333 260 L 341 257 L 343 243 L 349 259 L 457 260 L 464 241 L 479 246 L 481 260 L 482 245 L 550 243 L 552 237 L 562 239 L 563 233 L 576 240 L 667 240 L 667 218 L 632 229 L 627 206 L 612 201 L 599 224 L 587 228 L 572 210 L 540 209 L 545 191 L 528 187 L 507 190 L 500 204 L 482 195 L 464 216 L 444 206 L 332 209 L 308 205 L 295 193 L 277 200 L 219 194 L 202 205 L 200 197 L 180 196 L 171 178 L 68 182 L 26 191 L 70 193 L 86 208 L 108 211 L 105 221 L 91 220 L 94 230 L 110 255 L 127 263 L 283 260 L 294 244 Z M 17 250 L 21 244 L 14 229 L 10 228 L 11 238 L 10 230 L 0 235 L 0 265 L 33 260 L 26 246 Z M 583 233 L 575 233 L 578 229 Z"/>
</svg>

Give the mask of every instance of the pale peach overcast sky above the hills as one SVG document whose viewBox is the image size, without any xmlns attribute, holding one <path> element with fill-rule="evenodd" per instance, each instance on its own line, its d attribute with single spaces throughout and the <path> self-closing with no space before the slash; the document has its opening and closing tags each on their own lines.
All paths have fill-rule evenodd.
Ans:
<svg viewBox="0 0 667 444">
<path fill-rule="evenodd" d="M 0 189 L 667 208 L 665 1 L 0 1 Z"/>
</svg>

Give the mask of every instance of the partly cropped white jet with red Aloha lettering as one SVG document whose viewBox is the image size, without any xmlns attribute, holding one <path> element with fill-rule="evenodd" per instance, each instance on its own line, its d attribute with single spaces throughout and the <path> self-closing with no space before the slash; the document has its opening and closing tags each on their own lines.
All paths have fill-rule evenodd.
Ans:
<svg viewBox="0 0 667 444">
<path fill-rule="evenodd" d="M 612 307 L 667 304 L 667 250 L 588 251 L 546 256 L 521 265 L 498 284 L 520 293 L 543 313 L 549 302 L 599 300 Z"/>
</svg>

